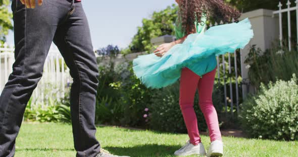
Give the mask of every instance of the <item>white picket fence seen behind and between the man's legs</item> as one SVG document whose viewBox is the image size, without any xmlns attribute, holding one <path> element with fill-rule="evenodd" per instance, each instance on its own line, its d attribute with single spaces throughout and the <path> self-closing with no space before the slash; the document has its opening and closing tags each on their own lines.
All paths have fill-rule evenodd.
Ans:
<svg viewBox="0 0 298 157">
<path fill-rule="evenodd" d="M 12 72 L 14 61 L 14 46 L 0 45 L 0 93 Z M 58 48 L 51 46 L 44 63 L 43 76 L 32 94 L 32 105 L 48 105 L 49 97 L 60 100 L 71 80 L 69 69 L 64 65 Z"/>
</svg>

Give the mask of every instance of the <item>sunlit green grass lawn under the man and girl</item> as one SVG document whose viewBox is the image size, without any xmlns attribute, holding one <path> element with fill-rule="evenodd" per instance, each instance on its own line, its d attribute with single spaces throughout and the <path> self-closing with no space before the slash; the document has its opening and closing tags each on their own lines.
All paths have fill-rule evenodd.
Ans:
<svg viewBox="0 0 298 157">
<path fill-rule="evenodd" d="M 138 131 L 117 127 L 98 127 L 96 137 L 102 147 L 118 155 L 173 156 L 188 139 L 187 134 Z M 202 136 L 206 149 L 209 137 Z M 298 141 L 272 141 L 223 137 L 224 156 L 298 156 Z M 75 156 L 71 125 L 22 125 L 17 138 L 18 156 Z"/>
</svg>

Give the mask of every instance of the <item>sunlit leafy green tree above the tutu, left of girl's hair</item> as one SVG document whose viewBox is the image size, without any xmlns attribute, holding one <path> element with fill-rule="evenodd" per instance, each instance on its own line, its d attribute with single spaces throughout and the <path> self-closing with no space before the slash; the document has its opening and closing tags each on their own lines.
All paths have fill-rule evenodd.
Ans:
<svg viewBox="0 0 298 157">
<path fill-rule="evenodd" d="M 153 48 L 152 38 L 174 35 L 173 30 L 177 11 L 178 7 L 172 5 L 163 11 L 154 12 L 151 19 L 143 19 L 142 26 L 137 28 L 137 34 L 129 45 L 131 52 L 149 52 Z"/>
</svg>

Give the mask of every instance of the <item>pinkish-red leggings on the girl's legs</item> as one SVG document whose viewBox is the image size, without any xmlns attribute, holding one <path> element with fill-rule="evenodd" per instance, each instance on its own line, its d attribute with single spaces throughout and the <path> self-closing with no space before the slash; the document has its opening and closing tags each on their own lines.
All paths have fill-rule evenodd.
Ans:
<svg viewBox="0 0 298 157">
<path fill-rule="evenodd" d="M 218 117 L 212 103 L 212 92 L 216 69 L 206 73 L 201 78 L 188 68 L 182 69 L 180 80 L 180 108 L 187 127 L 190 143 L 197 145 L 201 142 L 198 132 L 197 119 L 193 109 L 193 101 L 196 90 L 199 95 L 199 106 L 204 114 L 209 129 L 211 141 L 221 140 Z"/>
</svg>

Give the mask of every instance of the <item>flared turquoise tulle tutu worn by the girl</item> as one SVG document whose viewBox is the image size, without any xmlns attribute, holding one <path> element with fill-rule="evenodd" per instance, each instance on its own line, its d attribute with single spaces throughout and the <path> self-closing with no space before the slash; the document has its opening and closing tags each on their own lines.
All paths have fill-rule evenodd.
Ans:
<svg viewBox="0 0 298 157">
<path fill-rule="evenodd" d="M 175 83 L 184 67 L 202 76 L 216 68 L 215 56 L 244 48 L 254 36 L 249 19 L 214 26 L 204 34 L 190 34 L 163 57 L 154 53 L 133 60 L 135 75 L 148 88 L 163 88 Z"/>
</svg>

